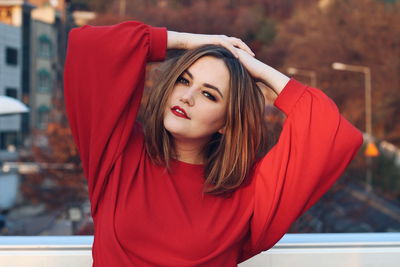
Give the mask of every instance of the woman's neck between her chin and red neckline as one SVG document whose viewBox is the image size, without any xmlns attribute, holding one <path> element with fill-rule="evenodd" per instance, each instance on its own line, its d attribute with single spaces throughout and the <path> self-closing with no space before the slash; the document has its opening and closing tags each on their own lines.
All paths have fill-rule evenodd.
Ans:
<svg viewBox="0 0 400 267">
<path fill-rule="evenodd" d="M 205 143 L 204 140 L 175 139 L 174 145 L 177 155 L 176 159 L 190 164 L 204 164 L 202 152 Z"/>
</svg>

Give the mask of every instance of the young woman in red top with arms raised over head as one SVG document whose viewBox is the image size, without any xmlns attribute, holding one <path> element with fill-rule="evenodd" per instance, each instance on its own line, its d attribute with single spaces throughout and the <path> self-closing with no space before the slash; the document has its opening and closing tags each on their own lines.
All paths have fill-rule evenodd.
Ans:
<svg viewBox="0 0 400 267">
<path fill-rule="evenodd" d="M 170 62 L 136 122 L 145 65 Z M 140 22 L 71 31 L 65 101 L 88 179 L 94 266 L 236 266 L 271 248 L 342 174 L 362 135 L 324 93 L 239 39 Z M 287 119 L 265 154 L 264 99 Z"/>
</svg>

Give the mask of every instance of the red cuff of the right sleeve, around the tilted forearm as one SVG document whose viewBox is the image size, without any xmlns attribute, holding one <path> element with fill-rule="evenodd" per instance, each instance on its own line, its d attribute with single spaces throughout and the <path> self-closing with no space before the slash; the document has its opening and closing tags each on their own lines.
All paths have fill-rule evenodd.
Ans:
<svg viewBox="0 0 400 267">
<path fill-rule="evenodd" d="M 275 99 L 274 106 L 288 115 L 307 86 L 291 78 L 282 92 Z"/>
</svg>

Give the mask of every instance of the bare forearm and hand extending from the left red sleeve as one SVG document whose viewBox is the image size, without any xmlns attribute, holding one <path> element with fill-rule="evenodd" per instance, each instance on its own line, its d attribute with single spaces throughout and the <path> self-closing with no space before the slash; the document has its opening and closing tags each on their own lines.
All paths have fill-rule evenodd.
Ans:
<svg viewBox="0 0 400 267">
<path fill-rule="evenodd" d="M 239 38 L 216 34 L 194 34 L 168 31 L 168 49 L 193 49 L 202 45 L 220 45 L 228 49 L 235 57 L 239 57 L 236 48 L 255 56 L 253 51 Z"/>
</svg>

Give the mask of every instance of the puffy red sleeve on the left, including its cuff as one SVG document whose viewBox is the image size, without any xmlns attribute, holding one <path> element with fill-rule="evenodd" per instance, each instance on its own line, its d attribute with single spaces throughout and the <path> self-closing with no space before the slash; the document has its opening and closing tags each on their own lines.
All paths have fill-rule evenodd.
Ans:
<svg viewBox="0 0 400 267">
<path fill-rule="evenodd" d="M 87 25 L 69 34 L 66 111 L 94 206 L 132 133 L 146 62 L 163 60 L 166 46 L 165 28 L 135 21 Z"/>
</svg>

